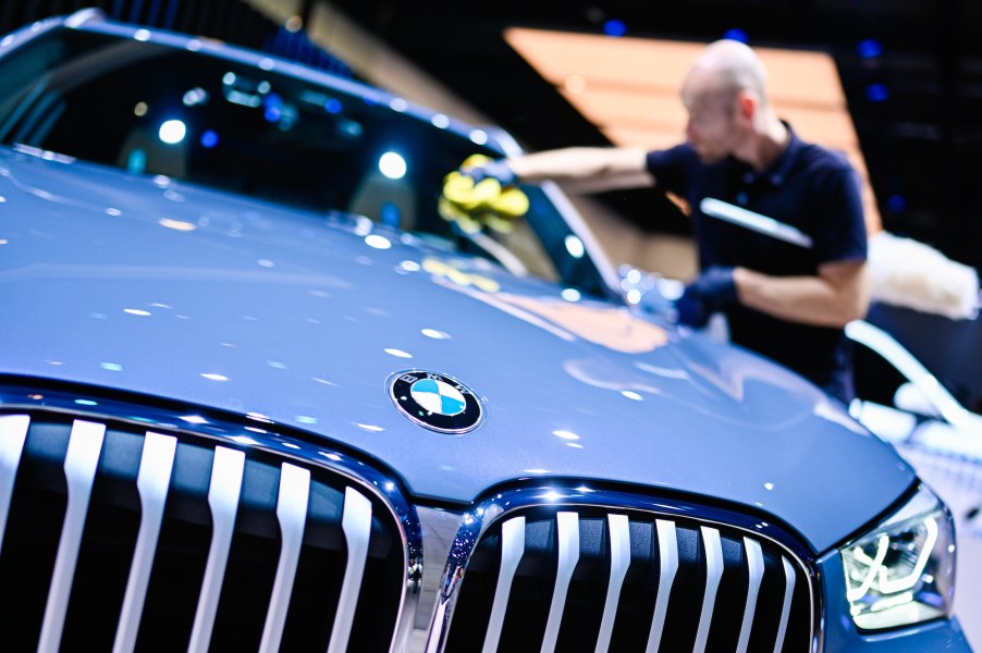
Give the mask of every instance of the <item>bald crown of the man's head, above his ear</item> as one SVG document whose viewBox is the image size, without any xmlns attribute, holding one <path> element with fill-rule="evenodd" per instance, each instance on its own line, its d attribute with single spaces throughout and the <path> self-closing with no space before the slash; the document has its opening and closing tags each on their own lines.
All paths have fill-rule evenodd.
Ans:
<svg viewBox="0 0 982 653">
<path fill-rule="evenodd" d="M 686 77 L 687 93 L 719 93 L 734 98 L 741 90 L 750 90 L 758 101 L 766 104 L 766 71 L 760 58 L 739 41 L 723 39 L 709 46 Z"/>
</svg>

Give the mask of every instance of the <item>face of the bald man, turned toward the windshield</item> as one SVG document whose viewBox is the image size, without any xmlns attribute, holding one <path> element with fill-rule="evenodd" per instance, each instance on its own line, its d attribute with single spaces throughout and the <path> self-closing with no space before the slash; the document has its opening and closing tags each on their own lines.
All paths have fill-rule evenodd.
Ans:
<svg viewBox="0 0 982 653">
<path fill-rule="evenodd" d="M 741 138 L 734 94 L 719 89 L 704 75 L 692 74 L 682 101 L 689 113 L 686 138 L 700 160 L 713 163 L 734 153 Z"/>
</svg>

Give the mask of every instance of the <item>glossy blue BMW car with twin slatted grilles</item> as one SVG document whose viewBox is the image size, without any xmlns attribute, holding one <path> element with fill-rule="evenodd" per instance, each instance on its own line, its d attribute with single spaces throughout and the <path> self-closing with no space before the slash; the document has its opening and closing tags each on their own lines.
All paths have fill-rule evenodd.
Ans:
<svg viewBox="0 0 982 653">
<path fill-rule="evenodd" d="M 8 651 L 968 651 L 945 505 L 515 152 L 84 11 L 0 40 Z"/>
</svg>

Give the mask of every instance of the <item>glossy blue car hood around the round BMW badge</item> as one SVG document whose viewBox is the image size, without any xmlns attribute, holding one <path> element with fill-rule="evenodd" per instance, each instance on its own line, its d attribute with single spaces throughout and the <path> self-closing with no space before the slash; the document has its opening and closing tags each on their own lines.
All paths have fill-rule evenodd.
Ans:
<svg viewBox="0 0 982 653">
<path fill-rule="evenodd" d="M 260 414 L 421 498 L 613 481 L 748 506 L 817 551 L 913 481 L 782 368 L 365 219 L 13 151 L 0 196 L 4 374 Z M 471 387 L 484 422 L 410 422 L 389 395 L 410 369 Z"/>
</svg>

